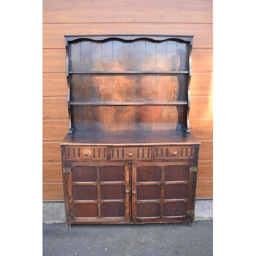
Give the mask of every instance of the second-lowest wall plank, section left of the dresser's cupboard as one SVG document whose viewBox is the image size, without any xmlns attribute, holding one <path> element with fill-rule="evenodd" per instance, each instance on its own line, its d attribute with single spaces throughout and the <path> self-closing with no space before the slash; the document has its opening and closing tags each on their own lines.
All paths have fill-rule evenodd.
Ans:
<svg viewBox="0 0 256 256">
<path fill-rule="evenodd" d="M 42 182 L 62 182 L 61 163 L 43 163 Z"/>
</svg>

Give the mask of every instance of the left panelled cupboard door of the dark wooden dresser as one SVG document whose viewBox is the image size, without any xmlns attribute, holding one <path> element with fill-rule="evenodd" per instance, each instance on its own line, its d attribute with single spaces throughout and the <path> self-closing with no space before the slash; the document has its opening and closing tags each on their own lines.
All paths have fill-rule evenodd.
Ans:
<svg viewBox="0 0 256 256">
<path fill-rule="evenodd" d="M 74 222 L 130 221 L 129 164 L 72 163 Z"/>
</svg>

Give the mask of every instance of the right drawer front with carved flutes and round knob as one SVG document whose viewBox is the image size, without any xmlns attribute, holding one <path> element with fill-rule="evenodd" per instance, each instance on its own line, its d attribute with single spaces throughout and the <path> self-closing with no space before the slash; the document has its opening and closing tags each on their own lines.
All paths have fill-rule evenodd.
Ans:
<svg viewBox="0 0 256 256">
<path fill-rule="evenodd" d="M 195 146 L 157 146 L 154 147 L 155 160 L 194 159 Z"/>
</svg>

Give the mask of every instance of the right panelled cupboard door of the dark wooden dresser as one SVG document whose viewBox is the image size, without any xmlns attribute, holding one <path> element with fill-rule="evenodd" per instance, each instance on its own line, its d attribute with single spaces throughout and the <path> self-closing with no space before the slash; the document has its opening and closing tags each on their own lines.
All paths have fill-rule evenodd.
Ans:
<svg viewBox="0 0 256 256">
<path fill-rule="evenodd" d="M 191 166 L 191 161 L 133 163 L 133 222 L 189 221 L 196 175 Z"/>
</svg>

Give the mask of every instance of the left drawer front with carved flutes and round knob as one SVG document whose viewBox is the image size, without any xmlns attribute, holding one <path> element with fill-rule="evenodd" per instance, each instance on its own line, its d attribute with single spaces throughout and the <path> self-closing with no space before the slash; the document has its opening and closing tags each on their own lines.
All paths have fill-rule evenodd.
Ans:
<svg viewBox="0 0 256 256">
<path fill-rule="evenodd" d="M 107 160 L 107 147 L 101 146 L 67 146 L 66 159 L 73 160 Z"/>
</svg>

